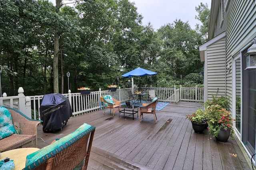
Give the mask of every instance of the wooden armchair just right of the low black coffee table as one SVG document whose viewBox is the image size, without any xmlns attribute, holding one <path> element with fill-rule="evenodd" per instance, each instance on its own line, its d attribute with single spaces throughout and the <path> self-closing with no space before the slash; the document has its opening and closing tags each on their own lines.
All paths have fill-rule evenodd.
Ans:
<svg viewBox="0 0 256 170">
<path fill-rule="evenodd" d="M 156 103 L 157 103 L 158 98 L 154 98 L 152 102 L 150 103 L 144 103 L 142 106 L 140 106 L 140 122 L 141 122 L 141 116 L 143 119 L 143 113 L 147 114 L 153 114 L 155 117 L 155 123 L 157 123 L 156 119 Z"/>
</svg>

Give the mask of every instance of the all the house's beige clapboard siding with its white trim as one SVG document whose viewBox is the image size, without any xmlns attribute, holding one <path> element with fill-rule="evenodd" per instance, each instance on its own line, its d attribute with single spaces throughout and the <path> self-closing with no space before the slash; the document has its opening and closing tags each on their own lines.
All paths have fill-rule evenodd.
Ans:
<svg viewBox="0 0 256 170">
<path fill-rule="evenodd" d="M 211 3 L 211 15 L 210 15 L 210 27 L 209 27 L 209 42 L 215 40 L 219 35 L 225 33 L 223 39 L 218 39 L 212 45 L 205 43 L 201 47 L 206 47 L 206 49 L 201 49 L 200 57 L 204 57 L 204 70 L 207 77 L 205 81 L 206 100 L 211 99 L 210 95 L 216 94 L 216 88 L 219 88 L 219 95 L 226 95 L 230 99 L 230 111 L 233 117 L 236 115 L 236 95 L 244 97 L 246 93 L 246 85 L 243 87 L 241 82 L 245 80 L 243 75 L 247 75 L 245 70 L 240 70 L 240 65 L 233 66 L 234 58 L 240 61 L 244 59 L 242 53 L 252 45 L 249 41 L 256 37 L 256 1 L 254 0 L 227 0 L 226 6 L 221 6 L 223 0 L 212 0 Z M 206 53 L 202 51 L 206 50 Z M 203 56 L 205 54 L 205 56 Z M 239 62 L 240 63 L 240 62 Z M 244 63 L 242 63 L 244 64 Z M 234 70 L 232 70 L 232 68 Z M 237 70 L 236 70 L 237 69 Z M 234 72 L 234 73 L 232 73 Z M 247 80 L 247 79 L 246 79 Z M 241 83 L 241 84 L 240 84 Z M 237 94 L 236 87 L 245 89 L 242 90 L 242 94 L 238 90 Z M 232 91 L 233 90 L 233 91 Z M 241 98 L 241 101 L 245 100 Z M 246 100 L 245 102 L 246 103 Z M 242 119 L 246 120 L 246 106 L 242 103 Z M 244 110 L 244 108 L 245 110 Z M 244 112 L 244 113 L 243 113 Z M 244 126 L 248 122 L 244 122 Z M 245 129 L 245 128 L 244 128 Z M 243 134 L 244 133 L 244 134 Z M 243 144 L 245 140 L 246 131 L 241 130 L 241 134 L 236 133 L 237 137 L 241 140 L 241 145 L 244 147 L 246 153 L 250 157 L 248 152 L 248 147 Z M 243 139 L 241 139 L 243 138 Z M 254 159 L 255 164 L 255 159 Z"/>
</svg>

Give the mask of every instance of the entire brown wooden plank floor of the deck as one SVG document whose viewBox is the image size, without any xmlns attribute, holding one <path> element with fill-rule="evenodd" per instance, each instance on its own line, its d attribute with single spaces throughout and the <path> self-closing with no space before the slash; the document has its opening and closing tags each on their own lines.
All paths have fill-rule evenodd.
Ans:
<svg viewBox="0 0 256 170">
<path fill-rule="evenodd" d="M 82 123 L 96 126 L 88 170 L 250 170 L 251 165 L 236 141 L 218 142 L 208 134 L 194 133 L 185 115 L 199 103 L 169 104 L 154 116 L 118 112 L 112 117 L 109 109 L 71 117 L 62 131 L 42 132 L 38 127 L 38 148 L 75 131 Z M 112 112 L 111 112 L 112 113 Z"/>
</svg>

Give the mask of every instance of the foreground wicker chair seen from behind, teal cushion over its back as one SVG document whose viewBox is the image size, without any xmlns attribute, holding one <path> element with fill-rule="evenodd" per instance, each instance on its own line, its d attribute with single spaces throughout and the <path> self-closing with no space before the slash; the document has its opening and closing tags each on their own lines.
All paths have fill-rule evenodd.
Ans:
<svg viewBox="0 0 256 170">
<path fill-rule="evenodd" d="M 94 132 L 95 126 L 84 123 L 73 133 L 29 154 L 23 170 L 86 170 Z"/>
</svg>

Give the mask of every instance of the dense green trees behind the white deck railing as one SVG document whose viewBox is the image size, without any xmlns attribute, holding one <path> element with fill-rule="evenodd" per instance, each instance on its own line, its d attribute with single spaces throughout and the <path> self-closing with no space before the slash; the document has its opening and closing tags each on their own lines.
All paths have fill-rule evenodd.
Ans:
<svg viewBox="0 0 256 170">
<path fill-rule="evenodd" d="M 55 31 L 60 35 L 57 78 L 63 79 L 64 92 L 66 72 L 70 90 L 77 92 L 83 86 L 92 91 L 107 90 L 109 84 L 128 87 L 121 75 L 139 66 L 158 72 L 140 77 L 142 87 L 149 87 L 150 80 L 153 87 L 173 87 L 180 84 L 180 74 L 185 78 L 203 67 L 201 35 L 188 22 L 176 20 L 155 31 L 150 23 L 142 25 L 143 17 L 129 0 L 76 1 L 59 12 L 45 0 L 2 0 L 0 8 L 2 92 L 8 96 L 20 86 L 25 95 L 53 92 Z M 182 84 L 198 86 L 194 79 L 182 78 Z M 139 84 L 138 77 L 134 83 Z"/>
</svg>

